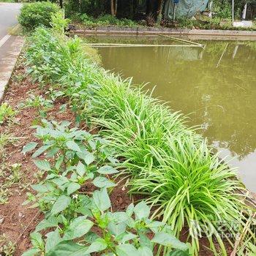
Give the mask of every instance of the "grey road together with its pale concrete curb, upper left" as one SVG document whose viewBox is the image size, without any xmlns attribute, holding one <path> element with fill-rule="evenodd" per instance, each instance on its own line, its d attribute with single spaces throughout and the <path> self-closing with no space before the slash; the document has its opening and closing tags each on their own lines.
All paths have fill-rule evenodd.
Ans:
<svg viewBox="0 0 256 256">
<path fill-rule="evenodd" d="M 0 101 L 23 47 L 21 37 L 8 34 L 8 29 L 18 24 L 21 5 L 0 3 Z"/>
</svg>

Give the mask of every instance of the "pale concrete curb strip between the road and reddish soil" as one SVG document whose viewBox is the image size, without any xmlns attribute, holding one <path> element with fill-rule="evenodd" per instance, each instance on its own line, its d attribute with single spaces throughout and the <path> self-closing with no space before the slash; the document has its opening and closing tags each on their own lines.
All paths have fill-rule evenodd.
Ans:
<svg viewBox="0 0 256 256">
<path fill-rule="evenodd" d="M 23 37 L 15 37 L 6 55 L 0 60 L 0 102 L 3 99 L 4 91 L 7 89 L 10 82 L 12 72 L 23 45 Z"/>
</svg>

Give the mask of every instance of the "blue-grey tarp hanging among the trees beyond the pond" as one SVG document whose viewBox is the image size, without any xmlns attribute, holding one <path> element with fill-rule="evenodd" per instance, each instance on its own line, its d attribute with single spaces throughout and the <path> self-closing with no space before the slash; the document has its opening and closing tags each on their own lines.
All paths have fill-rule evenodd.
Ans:
<svg viewBox="0 0 256 256">
<path fill-rule="evenodd" d="M 192 18 L 197 12 L 206 10 L 208 0 L 179 0 L 176 4 L 175 17 Z M 173 0 L 165 2 L 165 18 L 173 18 Z"/>
</svg>

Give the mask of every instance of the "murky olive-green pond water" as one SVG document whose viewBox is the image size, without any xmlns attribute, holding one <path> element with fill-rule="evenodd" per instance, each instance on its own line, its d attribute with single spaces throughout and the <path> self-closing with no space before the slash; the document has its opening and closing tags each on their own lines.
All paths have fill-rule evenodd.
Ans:
<svg viewBox="0 0 256 256">
<path fill-rule="evenodd" d="M 92 42 L 177 45 L 170 39 L 91 37 Z M 198 41 L 195 47 L 98 48 L 106 69 L 148 83 L 154 97 L 189 114 L 246 187 L 256 192 L 256 42 Z"/>
</svg>

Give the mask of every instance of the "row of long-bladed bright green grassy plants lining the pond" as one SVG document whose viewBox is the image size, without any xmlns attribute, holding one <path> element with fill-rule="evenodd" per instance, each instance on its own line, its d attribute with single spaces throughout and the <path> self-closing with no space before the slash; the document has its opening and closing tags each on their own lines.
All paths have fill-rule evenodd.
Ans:
<svg viewBox="0 0 256 256">
<path fill-rule="evenodd" d="M 216 239 L 227 255 L 217 229 L 225 225 L 235 235 L 230 224 L 243 225 L 243 186 L 206 140 L 186 126 L 181 113 L 132 86 L 132 80 L 102 69 L 91 48 L 77 37 L 59 34 L 54 26 L 36 29 L 26 59 L 34 78 L 64 91 L 83 118 L 110 139 L 124 159 L 130 192 L 146 195 L 153 217 L 170 224 L 177 235 L 185 226 L 197 227 L 197 233 L 210 228 L 211 249 L 217 254 Z M 196 254 L 198 236 L 191 239 Z"/>
</svg>

